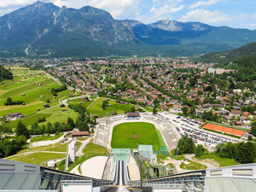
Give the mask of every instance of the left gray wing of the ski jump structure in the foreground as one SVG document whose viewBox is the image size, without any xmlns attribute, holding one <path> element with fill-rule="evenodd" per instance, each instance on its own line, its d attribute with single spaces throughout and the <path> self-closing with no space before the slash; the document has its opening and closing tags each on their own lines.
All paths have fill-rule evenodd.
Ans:
<svg viewBox="0 0 256 192">
<path fill-rule="evenodd" d="M 61 191 L 62 180 L 92 180 L 93 187 L 104 187 L 113 184 L 112 181 L 108 180 L 94 179 L 44 166 L 0 159 L 0 191 Z"/>
</svg>

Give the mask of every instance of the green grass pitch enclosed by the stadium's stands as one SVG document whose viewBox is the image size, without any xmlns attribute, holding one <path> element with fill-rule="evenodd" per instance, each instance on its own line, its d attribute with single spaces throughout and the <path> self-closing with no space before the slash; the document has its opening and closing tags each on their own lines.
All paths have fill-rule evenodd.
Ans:
<svg viewBox="0 0 256 192">
<path fill-rule="evenodd" d="M 137 148 L 137 144 L 153 145 L 160 150 L 160 138 L 153 124 L 123 123 L 113 127 L 112 148 Z"/>
</svg>

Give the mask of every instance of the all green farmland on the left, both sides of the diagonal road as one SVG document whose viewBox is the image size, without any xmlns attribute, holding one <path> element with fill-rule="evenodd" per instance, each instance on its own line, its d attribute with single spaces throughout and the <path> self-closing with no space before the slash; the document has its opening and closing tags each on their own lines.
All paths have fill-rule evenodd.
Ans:
<svg viewBox="0 0 256 192">
<path fill-rule="evenodd" d="M 51 94 L 51 89 L 59 88 L 61 85 L 55 83 L 47 75 L 43 76 L 42 72 L 30 71 L 22 67 L 12 67 L 11 69 L 11 72 L 14 74 L 14 80 L 4 80 L 1 83 L 2 86 L 0 86 L 0 116 L 19 112 L 25 118 L 10 121 L 9 123 L 3 124 L 3 126 L 15 128 L 19 120 L 26 126 L 29 126 L 37 122 L 38 118 L 43 117 L 47 121 L 40 125 L 47 124 L 47 122 L 55 123 L 56 121 L 62 123 L 67 120 L 67 117 L 76 119 L 78 114 L 74 113 L 73 110 L 67 108 L 67 111 L 62 112 L 58 106 L 59 100 L 62 97 L 71 94 L 70 90 L 58 92 L 55 98 Z M 26 105 L 5 106 L 4 102 L 6 102 L 8 97 L 13 101 L 23 101 Z M 47 100 L 50 101 L 49 106 L 51 108 L 44 109 L 44 104 L 47 103 Z M 40 109 L 39 112 L 38 109 Z M 26 118 L 26 116 L 30 117 Z"/>
</svg>

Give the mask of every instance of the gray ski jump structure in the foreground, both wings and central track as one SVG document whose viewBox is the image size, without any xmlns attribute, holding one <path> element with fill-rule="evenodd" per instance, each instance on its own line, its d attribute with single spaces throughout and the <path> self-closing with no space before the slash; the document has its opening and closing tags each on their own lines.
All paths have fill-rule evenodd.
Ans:
<svg viewBox="0 0 256 192">
<path fill-rule="evenodd" d="M 82 177 L 68 172 L 60 172 L 43 166 L 0 160 L 0 191 L 61 191 L 61 181 L 91 181 L 93 188 L 109 188 L 113 184 L 125 188 L 140 187 L 140 181 L 130 181 L 124 161 L 115 164 L 113 181 Z M 89 182 L 90 183 L 90 182 Z M 182 189 L 182 191 L 206 192 L 251 192 L 256 191 L 256 164 L 219 167 L 216 169 L 184 172 L 166 177 L 156 177 L 143 181 L 144 187 L 154 189 Z M 113 190 L 114 191 L 114 190 Z M 175 190 L 172 190 L 175 191 Z"/>
</svg>

